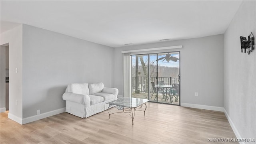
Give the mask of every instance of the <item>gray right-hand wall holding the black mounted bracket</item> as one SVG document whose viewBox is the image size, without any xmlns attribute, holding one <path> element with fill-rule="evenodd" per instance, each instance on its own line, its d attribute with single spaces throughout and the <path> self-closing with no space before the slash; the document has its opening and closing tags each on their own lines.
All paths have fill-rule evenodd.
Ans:
<svg viewBox="0 0 256 144">
<path fill-rule="evenodd" d="M 256 138 L 256 50 L 241 53 L 239 38 L 256 36 L 255 8 L 243 1 L 224 34 L 224 108 L 241 138 Z"/>
</svg>

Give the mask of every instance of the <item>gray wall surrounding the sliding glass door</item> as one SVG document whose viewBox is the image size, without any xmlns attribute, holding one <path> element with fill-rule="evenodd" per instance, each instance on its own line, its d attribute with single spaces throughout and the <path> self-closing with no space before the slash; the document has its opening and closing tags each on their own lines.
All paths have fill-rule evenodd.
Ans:
<svg viewBox="0 0 256 144">
<path fill-rule="evenodd" d="M 170 50 L 180 51 L 181 103 L 224 107 L 223 35 L 115 48 L 114 87 L 119 95 L 123 93 L 121 51 L 174 45 L 183 45 Z"/>
</svg>

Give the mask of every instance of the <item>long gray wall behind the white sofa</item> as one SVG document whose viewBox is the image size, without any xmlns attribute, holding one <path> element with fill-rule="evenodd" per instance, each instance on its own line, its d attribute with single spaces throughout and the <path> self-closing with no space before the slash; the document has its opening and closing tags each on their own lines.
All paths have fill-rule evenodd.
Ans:
<svg viewBox="0 0 256 144">
<path fill-rule="evenodd" d="M 23 25 L 23 118 L 65 107 L 69 83 L 112 87 L 114 48 Z"/>
</svg>

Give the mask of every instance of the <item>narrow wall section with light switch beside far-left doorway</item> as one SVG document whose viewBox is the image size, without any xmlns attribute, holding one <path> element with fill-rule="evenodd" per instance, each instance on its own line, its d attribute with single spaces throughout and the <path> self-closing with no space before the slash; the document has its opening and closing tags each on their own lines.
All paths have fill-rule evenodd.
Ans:
<svg viewBox="0 0 256 144">
<path fill-rule="evenodd" d="M 1 33 L 1 45 L 9 43 L 9 115 L 22 118 L 22 25 Z M 15 73 L 15 68 L 18 73 Z M 15 105 L 17 101 L 17 105 Z M 2 99 L 1 99 L 2 102 Z"/>
</svg>

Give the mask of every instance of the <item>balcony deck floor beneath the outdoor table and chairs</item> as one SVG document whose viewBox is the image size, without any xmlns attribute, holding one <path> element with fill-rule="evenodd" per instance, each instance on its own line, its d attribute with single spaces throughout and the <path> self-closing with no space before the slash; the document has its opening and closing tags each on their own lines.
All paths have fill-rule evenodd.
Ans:
<svg viewBox="0 0 256 144">
<path fill-rule="evenodd" d="M 152 93 L 150 93 L 149 96 L 150 96 L 149 98 L 151 98 Z M 132 97 L 140 98 L 140 99 L 148 99 L 148 93 L 132 93 Z M 150 101 L 154 101 L 155 97 L 156 97 L 156 93 L 154 93 L 154 95 L 153 95 L 152 99 L 150 99 Z M 171 103 L 170 99 L 168 99 L 166 101 L 165 99 L 162 99 L 162 98 L 163 98 L 163 95 L 158 94 L 158 102 L 179 105 L 179 99 L 178 99 L 178 102 L 175 102 L 175 97 L 172 98 L 172 103 Z M 156 102 L 156 99 L 155 99 L 155 102 Z"/>
</svg>

